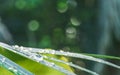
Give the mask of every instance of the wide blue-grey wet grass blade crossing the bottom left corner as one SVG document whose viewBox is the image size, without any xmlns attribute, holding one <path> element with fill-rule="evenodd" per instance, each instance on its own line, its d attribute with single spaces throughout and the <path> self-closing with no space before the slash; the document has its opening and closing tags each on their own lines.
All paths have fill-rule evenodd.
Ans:
<svg viewBox="0 0 120 75">
<path fill-rule="evenodd" d="M 24 68 L 20 67 L 16 63 L 12 62 L 8 58 L 4 57 L 0 54 L 0 66 L 11 71 L 15 75 L 33 75 L 29 71 L 25 70 Z"/>
</svg>

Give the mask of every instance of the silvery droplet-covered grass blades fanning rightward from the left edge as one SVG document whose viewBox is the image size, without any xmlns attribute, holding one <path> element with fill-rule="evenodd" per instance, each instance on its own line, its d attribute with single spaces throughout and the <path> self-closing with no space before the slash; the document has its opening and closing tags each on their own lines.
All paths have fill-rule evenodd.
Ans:
<svg viewBox="0 0 120 75">
<path fill-rule="evenodd" d="M 9 51 L 12 51 L 12 52 L 15 52 L 19 55 L 22 55 L 28 59 L 36 61 L 40 64 L 43 64 L 43 65 L 46 65 L 50 68 L 58 70 L 66 75 L 76 75 L 76 74 L 73 72 L 70 72 L 69 70 L 66 70 L 65 68 L 63 68 L 63 67 L 61 67 L 53 62 L 49 62 L 46 59 L 69 65 L 69 66 L 74 67 L 76 69 L 90 73 L 91 75 L 99 75 L 99 74 L 97 74 L 94 71 L 83 68 L 81 66 L 78 66 L 76 64 L 73 64 L 71 62 L 66 62 L 66 61 L 59 60 L 59 59 L 56 59 L 53 57 L 45 56 L 43 54 L 54 54 L 54 55 L 62 55 L 62 56 L 68 56 L 68 57 L 81 58 L 81 59 L 86 59 L 86 60 L 91 60 L 91 61 L 103 63 L 103 64 L 120 69 L 120 66 L 115 65 L 111 62 L 108 62 L 108 61 L 105 61 L 105 60 L 102 60 L 99 58 L 95 58 L 92 56 L 80 54 L 80 53 L 64 52 L 62 50 L 57 51 L 57 50 L 52 50 L 52 49 L 39 49 L 39 48 L 23 47 L 23 46 L 18 46 L 18 45 L 10 46 L 10 45 L 4 44 L 4 43 L 0 43 L 0 46 L 9 50 Z M 2 59 L 2 61 L 3 61 L 3 59 Z M 0 61 L 0 62 L 2 62 L 2 61 Z"/>
</svg>

